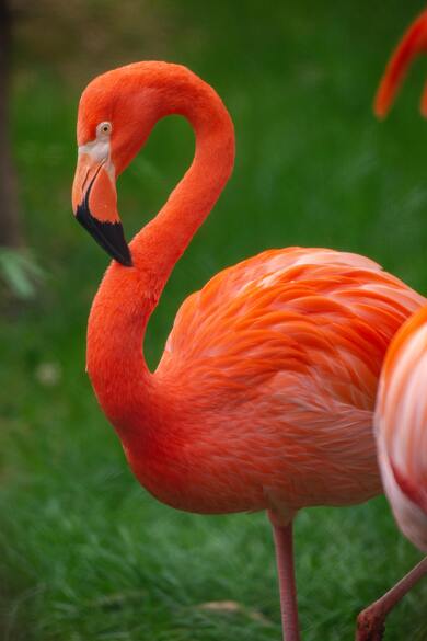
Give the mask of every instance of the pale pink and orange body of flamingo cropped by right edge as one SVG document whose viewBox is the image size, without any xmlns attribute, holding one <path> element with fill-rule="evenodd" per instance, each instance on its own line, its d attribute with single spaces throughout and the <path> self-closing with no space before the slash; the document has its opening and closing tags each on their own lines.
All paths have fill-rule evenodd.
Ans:
<svg viewBox="0 0 427 641">
<path fill-rule="evenodd" d="M 384 489 L 402 531 L 427 551 L 427 308 L 394 339 L 376 425 Z"/>
</svg>

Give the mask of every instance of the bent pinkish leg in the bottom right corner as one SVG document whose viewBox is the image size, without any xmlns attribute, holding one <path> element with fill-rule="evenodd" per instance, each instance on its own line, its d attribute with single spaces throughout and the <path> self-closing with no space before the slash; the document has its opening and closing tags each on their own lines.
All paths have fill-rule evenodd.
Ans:
<svg viewBox="0 0 427 641">
<path fill-rule="evenodd" d="M 407 592 L 427 574 L 427 557 L 389 592 L 365 608 L 357 617 L 356 641 L 381 641 L 385 617 Z"/>
</svg>

